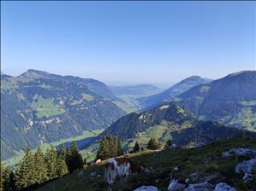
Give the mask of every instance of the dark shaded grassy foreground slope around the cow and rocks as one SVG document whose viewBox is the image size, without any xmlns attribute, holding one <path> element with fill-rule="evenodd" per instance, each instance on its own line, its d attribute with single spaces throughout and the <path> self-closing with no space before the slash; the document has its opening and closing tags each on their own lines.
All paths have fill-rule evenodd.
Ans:
<svg viewBox="0 0 256 191">
<path fill-rule="evenodd" d="M 235 165 L 241 162 L 242 158 L 222 158 L 223 151 L 231 148 L 254 148 L 256 149 L 256 139 L 236 138 L 232 140 L 214 142 L 204 148 L 188 148 L 178 150 L 164 150 L 160 152 L 143 151 L 129 154 L 128 157 L 134 159 L 140 165 L 152 166 L 155 170 L 152 174 L 132 175 L 128 182 L 121 186 L 119 180 L 113 190 L 134 190 L 141 185 L 155 185 L 160 190 L 166 190 L 170 182 L 170 171 L 174 166 L 179 165 L 180 171 L 174 177 L 189 177 L 191 182 L 201 182 L 212 173 L 217 173 L 217 178 L 211 181 L 227 182 L 237 190 L 246 190 L 241 182 L 241 176 L 235 175 Z M 98 177 L 90 177 L 92 171 L 96 171 Z M 199 176 L 192 178 L 191 173 L 197 172 Z M 256 173 L 256 172 L 254 172 Z M 49 182 L 38 191 L 68 191 L 68 190 L 105 190 L 104 185 L 104 164 L 93 165 L 85 169 L 83 177 L 78 177 L 78 172 L 62 177 L 53 182 Z"/>
</svg>

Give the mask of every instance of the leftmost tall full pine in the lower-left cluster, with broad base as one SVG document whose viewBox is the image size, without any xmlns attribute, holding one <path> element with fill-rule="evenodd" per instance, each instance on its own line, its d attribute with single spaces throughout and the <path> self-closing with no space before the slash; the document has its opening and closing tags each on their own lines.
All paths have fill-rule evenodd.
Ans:
<svg viewBox="0 0 256 191">
<path fill-rule="evenodd" d="M 33 153 L 30 148 L 27 148 L 24 158 L 18 164 L 16 176 L 19 188 L 29 189 L 31 185 L 36 183 L 37 173 L 35 171 Z"/>
</svg>

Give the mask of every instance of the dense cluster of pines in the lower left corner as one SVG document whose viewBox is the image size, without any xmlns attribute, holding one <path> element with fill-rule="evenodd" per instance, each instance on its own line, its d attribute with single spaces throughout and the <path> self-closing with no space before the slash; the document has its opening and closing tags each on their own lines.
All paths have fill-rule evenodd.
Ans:
<svg viewBox="0 0 256 191">
<path fill-rule="evenodd" d="M 42 182 L 63 177 L 81 169 L 84 161 L 75 142 L 57 150 L 53 146 L 43 153 L 40 147 L 33 153 L 27 148 L 26 154 L 12 171 L 1 163 L 1 191 L 33 190 Z"/>
</svg>

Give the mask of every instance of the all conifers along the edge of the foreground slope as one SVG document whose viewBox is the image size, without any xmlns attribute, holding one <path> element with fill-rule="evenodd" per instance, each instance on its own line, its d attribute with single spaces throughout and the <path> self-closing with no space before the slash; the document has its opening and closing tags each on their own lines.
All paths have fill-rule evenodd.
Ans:
<svg viewBox="0 0 256 191">
<path fill-rule="evenodd" d="M 170 144 L 170 142 L 168 142 Z M 151 138 L 147 142 L 146 149 L 157 150 L 161 144 L 157 139 Z M 142 150 L 139 142 L 135 142 L 130 153 Z M 104 136 L 100 142 L 96 159 L 110 159 L 123 154 L 121 141 L 116 136 Z M 57 177 L 63 177 L 83 168 L 86 159 L 82 159 L 80 150 L 75 142 L 66 148 L 64 144 L 60 149 L 51 146 L 43 153 L 40 147 L 33 153 L 31 148 L 20 163 L 12 171 L 9 166 L 3 167 L 1 163 L 1 189 L 0 191 L 21 191 L 38 188 L 43 182 L 50 181 Z"/>
</svg>

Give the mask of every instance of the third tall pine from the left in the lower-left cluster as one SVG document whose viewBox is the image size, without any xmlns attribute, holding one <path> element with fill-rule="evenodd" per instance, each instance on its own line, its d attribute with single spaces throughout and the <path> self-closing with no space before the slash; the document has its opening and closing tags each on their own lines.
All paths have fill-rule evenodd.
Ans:
<svg viewBox="0 0 256 191">
<path fill-rule="evenodd" d="M 51 180 L 57 177 L 57 151 L 51 145 L 45 153 L 45 161 L 47 166 L 47 177 Z"/>
</svg>

